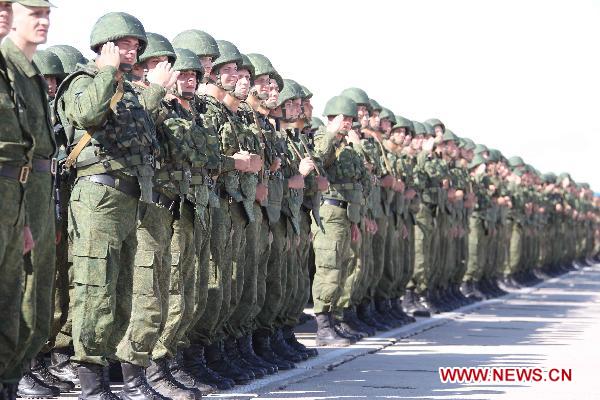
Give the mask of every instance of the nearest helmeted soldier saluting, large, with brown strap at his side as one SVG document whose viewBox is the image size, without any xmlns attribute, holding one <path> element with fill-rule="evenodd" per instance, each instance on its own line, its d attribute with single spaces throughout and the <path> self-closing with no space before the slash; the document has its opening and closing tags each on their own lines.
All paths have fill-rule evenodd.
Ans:
<svg viewBox="0 0 600 400">
<path fill-rule="evenodd" d="M 148 74 L 150 87 L 141 96 L 123 79 L 146 44 L 144 27 L 135 17 L 102 16 L 90 38 L 90 48 L 98 54 L 95 63 L 63 82 L 57 98 L 74 146 L 65 165 L 75 167 L 76 174 L 69 209 L 73 361 L 79 364 L 83 399 L 112 396 L 102 372 L 108 359 L 121 362 L 122 398 L 161 398 L 146 382 L 146 365 L 135 351 L 117 347 L 129 325 L 133 292 L 152 285 L 150 268 L 144 279 L 133 282 L 135 228 L 153 206 L 158 143 L 149 110 L 158 108 L 174 80 L 166 62 Z"/>
</svg>

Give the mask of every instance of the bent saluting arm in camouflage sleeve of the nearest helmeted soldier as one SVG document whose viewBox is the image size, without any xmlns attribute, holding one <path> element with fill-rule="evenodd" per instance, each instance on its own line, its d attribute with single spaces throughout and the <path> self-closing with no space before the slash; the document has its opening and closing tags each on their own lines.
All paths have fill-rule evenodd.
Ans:
<svg viewBox="0 0 600 400">
<path fill-rule="evenodd" d="M 81 75 L 69 85 L 63 102 L 65 115 L 74 127 L 87 129 L 104 123 L 116 91 L 116 73 L 114 67 L 106 66 L 94 78 Z"/>
</svg>

